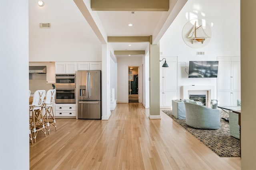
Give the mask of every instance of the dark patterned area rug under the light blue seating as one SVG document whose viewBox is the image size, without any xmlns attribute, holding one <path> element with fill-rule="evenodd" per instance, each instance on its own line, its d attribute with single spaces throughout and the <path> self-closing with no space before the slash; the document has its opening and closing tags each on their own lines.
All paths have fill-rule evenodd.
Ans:
<svg viewBox="0 0 256 170">
<path fill-rule="evenodd" d="M 186 124 L 186 119 L 176 119 L 171 110 L 163 110 L 179 125 L 204 143 L 220 157 L 239 157 L 240 141 L 229 135 L 229 123 L 220 119 L 220 129 L 196 129 Z M 220 117 L 228 117 L 228 113 L 220 111 Z"/>
</svg>

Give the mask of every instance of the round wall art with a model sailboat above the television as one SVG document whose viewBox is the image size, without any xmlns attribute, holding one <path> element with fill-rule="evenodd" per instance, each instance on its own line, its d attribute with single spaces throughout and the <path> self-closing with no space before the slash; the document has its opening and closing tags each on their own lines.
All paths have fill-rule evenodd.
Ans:
<svg viewBox="0 0 256 170">
<path fill-rule="evenodd" d="M 211 39 L 211 27 L 205 20 L 190 20 L 182 29 L 183 41 L 189 47 L 198 49 L 204 47 Z"/>
</svg>

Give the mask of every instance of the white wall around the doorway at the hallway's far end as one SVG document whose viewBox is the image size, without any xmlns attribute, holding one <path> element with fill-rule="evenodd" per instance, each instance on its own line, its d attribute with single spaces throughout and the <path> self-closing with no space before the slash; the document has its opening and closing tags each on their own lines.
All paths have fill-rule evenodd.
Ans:
<svg viewBox="0 0 256 170">
<path fill-rule="evenodd" d="M 117 58 L 117 102 L 128 103 L 128 66 L 140 66 L 142 65 L 142 57 L 118 57 Z M 141 74 L 141 70 L 139 71 Z M 140 78 L 140 84 L 142 80 Z M 142 93 L 140 92 L 140 95 Z"/>
</svg>

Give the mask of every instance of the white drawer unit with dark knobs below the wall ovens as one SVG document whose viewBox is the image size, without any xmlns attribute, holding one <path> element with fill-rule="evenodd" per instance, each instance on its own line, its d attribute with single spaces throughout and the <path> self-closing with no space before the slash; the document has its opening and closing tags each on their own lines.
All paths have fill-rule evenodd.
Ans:
<svg viewBox="0 0 256 170">
<path fill-rule="evenodd" d="M 76 104 L 55 104 L 55 116 L 76 116 Z"/>
</svg>

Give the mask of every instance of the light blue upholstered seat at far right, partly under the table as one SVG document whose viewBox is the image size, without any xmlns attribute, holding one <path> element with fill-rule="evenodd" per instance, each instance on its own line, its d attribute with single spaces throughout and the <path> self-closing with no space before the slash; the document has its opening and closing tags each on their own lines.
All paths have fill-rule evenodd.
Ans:
<svg viewBox="0 0 256 170">
<path fill-rule="evenodd" d="M 238 125 L 238 114 L 229 111 L 229 134 L 232 137 L 240 139 L 240 127 Z"/>
</svg>

